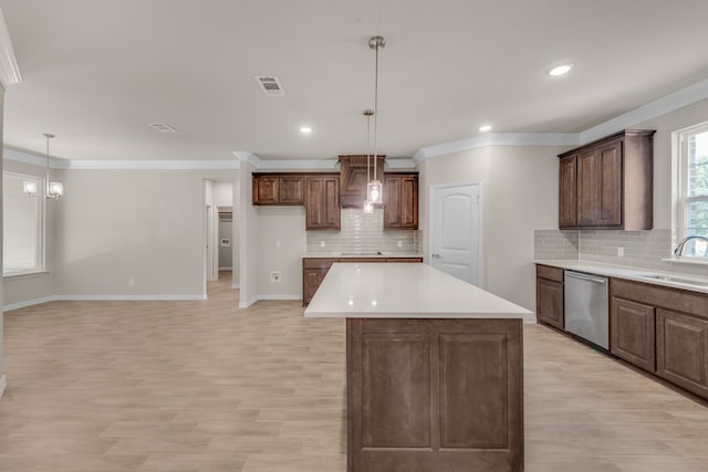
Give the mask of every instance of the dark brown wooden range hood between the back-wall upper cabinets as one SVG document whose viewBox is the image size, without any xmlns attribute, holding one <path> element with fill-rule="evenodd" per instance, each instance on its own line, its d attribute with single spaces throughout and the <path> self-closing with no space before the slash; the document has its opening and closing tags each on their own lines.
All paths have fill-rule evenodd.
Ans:
<svg viewBox="0 0 708 472">
<path fill-rule="evenodd" d="M 384 179 L 384 160 L 386 156 L 376 156 L 376 177 Z M 342 208 L 364 208 L 366 200 L 366 183 L 368 178 L 374 178 L 374 156 L 368 159 L 366 155 L 340 156 L 340 204 Z M 384 192 L 386 188 L 384 187 Z M 385 193 L 384 193 L 385 195 Z"/>
</svg>

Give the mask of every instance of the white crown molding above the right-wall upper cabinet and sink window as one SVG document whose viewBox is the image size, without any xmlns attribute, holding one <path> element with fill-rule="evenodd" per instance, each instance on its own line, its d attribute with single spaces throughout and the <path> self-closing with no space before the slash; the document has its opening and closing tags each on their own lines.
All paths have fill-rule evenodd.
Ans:
<svg viewBox="0 0 708 472">
<path fill-rule="evenodd" d="M 600 139 L 613 133 L 648 122 L 667 113 L 675 112 L 688 105 L 708 98 L 708 78 L 681 88 L 677 92 L 649 102 L 638 108 L 620 115 L 597 126 L 585 129 L 580 134 L 580 144 L 586 144 Z"/>
</svg>

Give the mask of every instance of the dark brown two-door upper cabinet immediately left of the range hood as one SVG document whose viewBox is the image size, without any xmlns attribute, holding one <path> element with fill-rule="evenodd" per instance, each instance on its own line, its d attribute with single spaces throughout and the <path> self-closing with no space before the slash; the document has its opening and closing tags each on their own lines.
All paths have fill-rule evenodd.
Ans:
<svg viewBox="0 0 708 472">
<path fill-rule="evenodd" d="M 305 177 L 305 229 L 340 230 L 340 176 L 337 174 Z"/>
</svg>

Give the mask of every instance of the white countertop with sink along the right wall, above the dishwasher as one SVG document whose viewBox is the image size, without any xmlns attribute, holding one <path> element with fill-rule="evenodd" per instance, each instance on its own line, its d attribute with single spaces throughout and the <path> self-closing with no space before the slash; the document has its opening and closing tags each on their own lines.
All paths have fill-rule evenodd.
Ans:
<svg viewBox="0 0 708 472">
<path fill-rule="evenodd" d="M 610 277 L 626 279 L 635 282 L 644 282 L 654 285 L 668 286 L 673 289 L 689 290 L 693 292 L 708 293 L 708 276 L 701 277 L 696 275 L 686 275 L 676 272 L 662 272 L 652 269 L 627 268 L 611 264 L 601 264 L 587 261 L 564 261 L 564 260 L 537 260 L 537 264 L 550 265 L 552 268 L 568 269 L 571 271 L 586 272 L 590 274 L 605 275 Z M 654 277 L 653 277 L 654 276 Z M 683 282 L 655 279 L 674 277 L 680 279 Z M 688 283 L 691 282 L 691 283 Z"/>
</svg>

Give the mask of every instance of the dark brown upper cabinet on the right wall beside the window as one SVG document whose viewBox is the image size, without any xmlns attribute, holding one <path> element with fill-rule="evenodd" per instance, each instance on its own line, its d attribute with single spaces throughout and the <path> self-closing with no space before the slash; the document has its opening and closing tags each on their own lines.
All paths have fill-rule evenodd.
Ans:
<svg viewBox="0 0 708 472">
<path fill-rule="evenodd" d="M 654 133 L 626 129 L 559 156 L 560 229 L 653 228 Z"/>
</svg>

